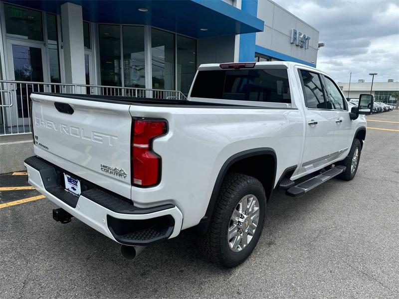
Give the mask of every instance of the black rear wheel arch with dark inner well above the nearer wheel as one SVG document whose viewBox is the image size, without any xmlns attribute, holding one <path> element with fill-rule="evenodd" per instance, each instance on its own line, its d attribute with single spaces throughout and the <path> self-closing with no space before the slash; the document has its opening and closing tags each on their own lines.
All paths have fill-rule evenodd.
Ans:
<svg viewBox="0 0 399 299">
<path fill-rule="evenodd" d="M 272 170 L 264 171 L 265 167 L 272 167 Z M 261 172 L 260 169 L 263 171 Z M 202 217 L 200 223 L 196 226 L 196 230 L 201 234 L 207 231 L 216 204 L 217 194 L 227 173 L 235 171 L 259 179 L 265 189 L 266 198 L 269 200 L 274 188 L 276 170 L 277 157 L 275 151 L 271 148 L 248 149 L 229 157 L 219 170 L 205 216 Z"/>
</svg>

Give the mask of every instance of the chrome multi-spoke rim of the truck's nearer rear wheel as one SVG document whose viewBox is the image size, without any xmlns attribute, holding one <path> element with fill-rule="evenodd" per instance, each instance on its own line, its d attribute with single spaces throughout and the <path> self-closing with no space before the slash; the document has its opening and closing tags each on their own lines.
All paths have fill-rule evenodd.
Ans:
<svg viewBox="0 0 399 299">
<path fill-rule="evenodd" d="M 234 252 L 243 250 L 251 242 L 259 222 L 259 202 L 255 195 L 241 198 L 230 218 L 227 241 Z"/>
</svg>

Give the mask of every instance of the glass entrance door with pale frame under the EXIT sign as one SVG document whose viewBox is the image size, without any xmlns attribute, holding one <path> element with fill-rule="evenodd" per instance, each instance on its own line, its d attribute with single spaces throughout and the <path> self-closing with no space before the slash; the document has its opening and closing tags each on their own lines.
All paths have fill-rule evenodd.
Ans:
<svg viewBox="0 0 399 299">
<path fill-rule="evenodd" d="M 24 127 L 29 126 L 30 94 L 45 91 L 43 84 L 37 83 L 48 82 L 45 48 L 33 42 L 7 40 L 7 51 L 12 56 L 9 61 L 11 80 L 32 82 L 12 83 L 8 86 L 12 90 L 13 103 L 8 118 L 13 127 L 17 126 L 25 132 Z"/>
</svg>

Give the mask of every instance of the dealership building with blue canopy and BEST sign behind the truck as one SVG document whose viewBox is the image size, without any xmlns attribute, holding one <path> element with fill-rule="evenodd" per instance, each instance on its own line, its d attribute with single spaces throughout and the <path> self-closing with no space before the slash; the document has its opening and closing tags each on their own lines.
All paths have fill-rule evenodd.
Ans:
<svg viewBox="0 0 399 299">
<path fill-rule="evenodd" d="M 319 31 L 271 0 L 7 0 L 0 31 L 7 142 L 30 133 L 33 91 L 184 99 L 202 63 L 316 66 L 319 49 Z"/>
</svg>

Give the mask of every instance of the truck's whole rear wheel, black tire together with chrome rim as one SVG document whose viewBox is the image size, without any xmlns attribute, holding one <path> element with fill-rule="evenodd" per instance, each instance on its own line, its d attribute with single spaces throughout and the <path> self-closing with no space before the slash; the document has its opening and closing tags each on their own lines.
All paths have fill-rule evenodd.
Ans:
<svg viewBox="0 0 399 299">
<path fill-rule="evenodd" d="M 224 267 L 245 261 L 255 248 L 265 218 L 266 196 L 259 180 L 229 173 L 223 180 L 201 247 Z"/>
</svg>

